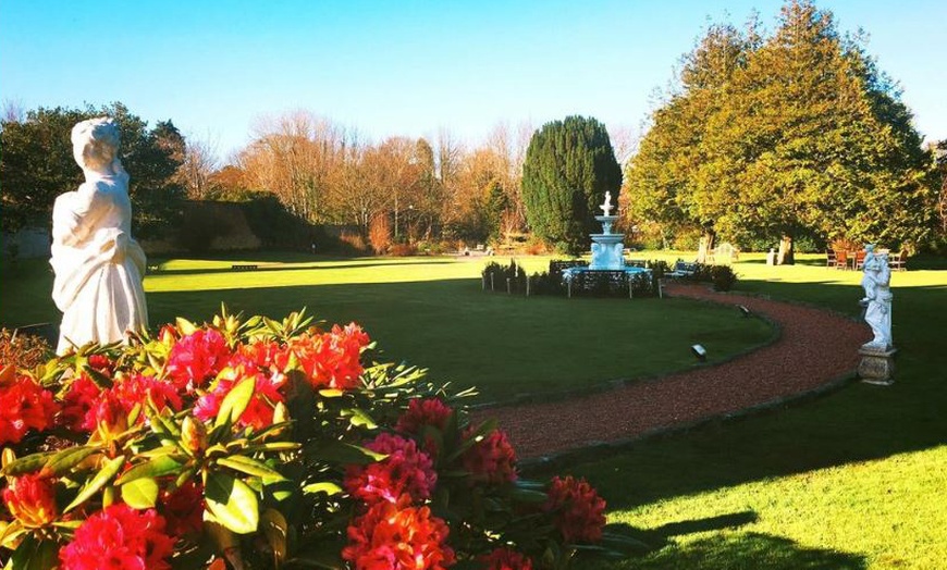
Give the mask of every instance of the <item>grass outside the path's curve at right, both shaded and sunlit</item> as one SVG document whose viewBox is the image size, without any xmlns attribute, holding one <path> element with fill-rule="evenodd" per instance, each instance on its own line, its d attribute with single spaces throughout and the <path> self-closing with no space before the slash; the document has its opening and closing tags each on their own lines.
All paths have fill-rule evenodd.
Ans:
<svg viewBox="0 0 947 570">
<path fill-rule="evenodd" d="M 860 273 L 752 256 L 736 269 L 743 290 L 859 311 Z M 602 568 L 944 568 L 947 271 L 896 272 L 893 290 L 894 386 L 853 383 L 574 466 L 608 500 L 611 522 L 664 545 Z"/>
</svg>

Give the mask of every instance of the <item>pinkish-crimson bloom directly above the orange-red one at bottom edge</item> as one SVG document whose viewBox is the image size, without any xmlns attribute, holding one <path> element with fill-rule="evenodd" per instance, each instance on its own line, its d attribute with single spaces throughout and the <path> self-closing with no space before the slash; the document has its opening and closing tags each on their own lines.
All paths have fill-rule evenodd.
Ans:
<svg viewBox="0 0 947 570">
<path fill-rule="evenodd" d="M 414 441 L 382 433 L 366 447 L 388 457 L 377 463 L 348 469 L 345 488 L 353 497 L 372 505 L 395 503 L 404 495 L 415 501 L 431 496 L 438 473 L 431 458 L 420 451 Z"/>
</svg>

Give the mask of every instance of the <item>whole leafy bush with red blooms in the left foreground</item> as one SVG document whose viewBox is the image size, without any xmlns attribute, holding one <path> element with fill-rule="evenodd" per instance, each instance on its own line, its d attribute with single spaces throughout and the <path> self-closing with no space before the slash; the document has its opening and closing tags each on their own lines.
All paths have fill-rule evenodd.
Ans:
<svg viewBox="0 0 947 570">
<path fill-rule="evenodd" d="M 0 559 L 531 570 L 602 535 L 587 483 L 521 480 L 502 431 L 370 347 L 355 324 L 224 313 L 0 362 Z"/>
</svg>

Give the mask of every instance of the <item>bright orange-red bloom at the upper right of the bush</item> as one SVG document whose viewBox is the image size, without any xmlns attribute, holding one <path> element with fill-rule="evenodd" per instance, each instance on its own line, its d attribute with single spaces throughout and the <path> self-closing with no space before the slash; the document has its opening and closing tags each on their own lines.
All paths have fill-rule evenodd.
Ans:
<svg viewBox="0 0 947 570">
<path fill-rule="evenodd" d="M 361 349 L 369 337 L 355 323 L 345 329 L 335 325 L 329 333 L 303 334 L 290 340 L 288 351 L 276 356 L 280 370 L 288 364 L 292 352 L 316 387 L 349 389 L 358 386 Z"/>
</svg>

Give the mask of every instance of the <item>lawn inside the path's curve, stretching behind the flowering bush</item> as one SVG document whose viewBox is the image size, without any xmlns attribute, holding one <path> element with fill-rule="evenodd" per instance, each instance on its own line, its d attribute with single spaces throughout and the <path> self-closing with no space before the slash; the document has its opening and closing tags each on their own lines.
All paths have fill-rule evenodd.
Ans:
<svg viewBox="0 0 947 570">
<path fill-rule="evenodd" d="M 378 340 L 382 359 L 423 365 L 432 380 L 456 387 L 477 386 L 480 401 L 663 374 L 696 365 L 693 343 L 708 348 L 711 361 L 720 361 L 774 334 L 763 321 L 686 299 L 569 300 L 484 293 L 480 270 L 492 259 L 508 262 L 266 253 L 170 260 L 145 286 L 152 325 L 179 315 L 208 320 L 221 302 L 245 314 L 282 318 L 307 307 L 309 314 L 328 322 L 356 321 Z M 538 271 L 548 267 L 549 258 L 525 262 L 529 271 Z M 248 263 L 259 269 L 230 269 Z M 51 301 L 37 296 L 49 290 L 42 280 L 50 275 L 35 263 L 21 265 L 24 281 L 33 283 L 17 283 L 10 289 L 17 293 L 10 297 L 4 287 L 0 321 L 54 321 Z M 33 297 L 17 302 L 23 295 Z"/>
</svg>

